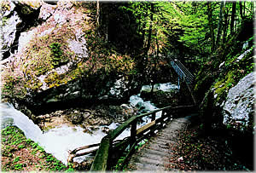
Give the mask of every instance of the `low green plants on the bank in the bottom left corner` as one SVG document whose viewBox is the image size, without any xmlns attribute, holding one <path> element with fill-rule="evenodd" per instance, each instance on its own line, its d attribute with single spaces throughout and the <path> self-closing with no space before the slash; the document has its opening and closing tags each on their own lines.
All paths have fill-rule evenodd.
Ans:
<svg viewBox="0 0 256 173">
<path fill-rule="evenodd" d="M 41 170 L 67 170 L 65 164 L 62 164 L 51 154 L 45 153 L 44 148 L 40 147 L 38 143 L 31 139 L 26 139 L 24 133 L 15 126 L 8 126 L 2 130 L 1 147 L 2 156 L 5 157 L 4 159 L 8 158 L 9 160 L 9 162 L 2 162 L 2 170 L 24 170 L 26 166 L 33 165 L 36 165 Z M 22 151 L 25 151 L 24 148 L 29 151 L 29 153 L 25 152 L 26 156 L 20 155 Z M 30 161 L 26 160 L 26 158 L 31 159 L 33 157 L 37 159 L 32 160 L 33 162 L 30 164 Z M 70 168 L 69 170 L 73 169 Z"/>
</svg>

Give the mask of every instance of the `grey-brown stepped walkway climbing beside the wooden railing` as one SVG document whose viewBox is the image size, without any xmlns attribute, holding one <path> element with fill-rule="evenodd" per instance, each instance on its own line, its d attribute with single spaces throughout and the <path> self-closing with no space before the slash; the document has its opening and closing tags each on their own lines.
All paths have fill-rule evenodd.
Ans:
<svg viewBox="0 0 256 173">
<path fill-rule="evenodd" d="M 140 148 L 131 157 L 127 166 L 128 170 L 151 170 L 151 171 L 170 171 L 166 167 L 170 163 L 172 150 L 169 144 L 177 141 L 178 134 L 185 130 L 191 123 L 191 116 L 173 119 L 156 136 Z"/>
</svg>

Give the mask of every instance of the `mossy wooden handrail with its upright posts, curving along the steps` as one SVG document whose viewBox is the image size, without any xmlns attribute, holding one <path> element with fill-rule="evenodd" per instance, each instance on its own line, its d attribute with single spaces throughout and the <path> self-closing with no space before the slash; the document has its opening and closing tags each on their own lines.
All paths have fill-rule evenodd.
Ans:
<svg viewBox="0 0 256 173">
<path fill-rule="evenodd" d="M 137 140 L 137 136 L 142 136 L 144 132 L 147 130 L 152 130 L 153 127 L 157 127 L 157 124 L 160 123 L 160 127 L 164 124 L 164 121 L 166 118 L 171 117 L 172 111 L 178 110 L 178 109 L 184 109 L 184 108 L 195 108 L 195 105 L 189 105 L 189 106 L 178 106 L 178 107 L 163 107 L 160 109 L 156 109 L 151 112 L 143 113 L 134 117 L 131 117 L 125 121 L 125 123 L 119 125 L 115 130 L 111 131 L 107 136 L 102 138 L 101 144 L 99 149 L 97 150 L 96 157 L 94 159 L 93 164 L 91 165 L 90 170 L 101 170 L 105 171 L 110 169 L 110 159 L 111 159 L 111 154 L 113 153 L 113 140 L 119 136 L 125 129 L 129 128 L 131 126 L 131 136 L 130 136 L 130 146 L 131 150 L 134 149 L 132 147 L 136 146 L 135 144 L 139 142 Z M 164 111 L 165 110 L 165 111 Z M 164 113 L 161 113 L 161 117 L 155 119 L 155 113 L 164 111 Z M 169 112 L 169 113 L 167 113 Z M 151 118 L 151 123 L 144 125 L 143 127 L 139 128 L 137 130 L 137 120 L 149 115 L 153 115 Z M 141 137 L 142 138 L 142 137 Z M 143 138 L 142 138 L 143 139 Z M 129 153 L 131 154 L 131 153 Z"/>
</svg>

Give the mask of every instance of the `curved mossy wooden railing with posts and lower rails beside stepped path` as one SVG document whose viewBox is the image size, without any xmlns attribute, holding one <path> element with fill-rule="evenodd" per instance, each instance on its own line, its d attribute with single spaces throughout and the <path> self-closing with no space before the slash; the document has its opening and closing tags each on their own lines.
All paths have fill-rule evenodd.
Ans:
<svg viewBox="0 0 256 173">
<path fill-rule="evenodd" d="M 194 105 L 179 107 L 169 106 L 129 118 L 125 121 L 125 123 L 119 125 L 118 128 L 111 131 L 107 136 L 102 138 L 100 147 L 97 150 L 96 157 L 93 164 L 91 165 L 90 170 L 110 170 L 111 167 L 115 164 L 113 163 L 114 155 L 119 152 L 121 145 L 126 145 L 125 147 L 129 147 L 129 152 L 125 155 L 124 159 L 127 160 L 134 152 L 135 147 L 140 141 L 147 138 L 148 136 L 153 135 L 155 132 L 164 127 L 166 123 L 171 120 L 171 118 L 174 118 L 173 115 L 175 115 L 177 112 L 191 112 L 195 110 L 196 107 Z M 157 112 L 160 112 L 160 118 L 156 118 Z M 137 128 L 138 122 L 141 121 L 144 117 L 150 118 L 151 122 L 144 125 L 143 127 Z M 131 135 L 119 143 L 113 143 L 114 140 L 127 128 L 131 129 Z"/>
</svg>

